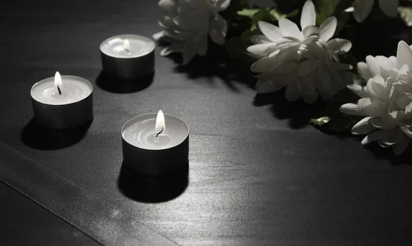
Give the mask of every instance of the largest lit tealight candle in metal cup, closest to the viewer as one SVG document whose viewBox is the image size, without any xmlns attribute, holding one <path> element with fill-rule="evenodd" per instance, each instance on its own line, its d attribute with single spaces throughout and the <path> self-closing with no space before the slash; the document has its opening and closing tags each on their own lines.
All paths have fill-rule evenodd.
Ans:
<svg viewBox="0 0 412 246">
<path fill-rule="evenodd" d="M 124 163 L 141 175 L 179 172 L 189 157 L 189 127 L 173 115 L 146 113 L 122 128 Z"/>
</svg>

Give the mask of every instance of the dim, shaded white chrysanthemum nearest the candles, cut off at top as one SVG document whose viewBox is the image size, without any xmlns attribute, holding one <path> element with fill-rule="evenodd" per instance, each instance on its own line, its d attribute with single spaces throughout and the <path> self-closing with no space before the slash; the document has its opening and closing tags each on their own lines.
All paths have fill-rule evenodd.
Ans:
<svg viewBox="0 0 412 246">
<path fill-rule="evenodd" d="M 183 53 L 183 65 L 196 54 L 207 52 L 207 36 L 222 45 L 225 43 L 227 22 L 218 13 L 225 10 L 231 0 L 160 0 L 165 16 L 159 21 L 163 31 L 153 35 L 157 41 L 170 46 L 161 51 L 162 56 L 173 52 Z"/>
</svg>

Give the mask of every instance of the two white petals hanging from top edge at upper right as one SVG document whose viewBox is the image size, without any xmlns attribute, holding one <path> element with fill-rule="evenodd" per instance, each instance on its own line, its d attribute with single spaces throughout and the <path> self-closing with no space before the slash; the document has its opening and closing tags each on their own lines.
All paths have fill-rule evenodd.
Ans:
<svg viewBox="0 0 412 246">
<path fill-rule="evenodd" d="M 369 16 L 374 7 L 375 0 L 356 0 L 354 18 L 363 22 Z M 396 17 L 398 14 L 399 0 L 379 0 L 379 7 L 387 16 Z"/>
</svg>

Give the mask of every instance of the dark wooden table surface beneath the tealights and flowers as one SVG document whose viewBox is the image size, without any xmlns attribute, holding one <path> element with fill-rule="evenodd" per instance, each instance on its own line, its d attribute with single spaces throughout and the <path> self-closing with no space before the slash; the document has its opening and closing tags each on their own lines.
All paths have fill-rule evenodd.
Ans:
<svg viewBox="0 0 412 246">
<path fill-rule="evenodd" d="M 105 38 L 160 17 L 155 0 L 2 3 L 0 245 L 411 245 L 411 166 L 306 125 L 302 102 L 256 96 L 214 54 L 181 69 L 157 47 L 138 85 L 100 74 Z M 30 88 L 55 71 L 92 82 L 87 128 L 32 121 Z M 122 125 L 159 109 L 191 129 L 189 170 L 167 180 L 122 165 Z"/>
</svg>

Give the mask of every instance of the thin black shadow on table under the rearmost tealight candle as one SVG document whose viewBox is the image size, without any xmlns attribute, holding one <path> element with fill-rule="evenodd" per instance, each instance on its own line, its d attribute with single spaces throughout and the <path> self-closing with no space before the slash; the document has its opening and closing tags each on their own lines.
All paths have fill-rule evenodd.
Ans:
<svg viewBox="0 0 412 246">
<path fill-rule="evenodd" d="M 148 88 L 152 85 L 153 78 L 155 78 L 155 72 L 137 80 L 119 80 L 100 72 L 96 79 L 96 85 L 101 89 L 104 89 L 104 91 L 125 94 L 142 91 Z"/>
</svg>

